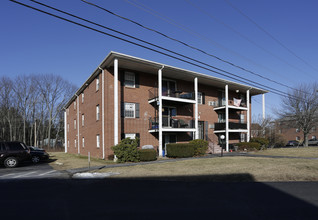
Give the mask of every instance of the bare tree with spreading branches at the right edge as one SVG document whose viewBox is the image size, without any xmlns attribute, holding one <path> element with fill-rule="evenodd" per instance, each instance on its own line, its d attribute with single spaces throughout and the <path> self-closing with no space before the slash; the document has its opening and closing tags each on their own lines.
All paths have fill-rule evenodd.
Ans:
<svg viewBox="0 0 318 220">
<path fill-rule="evenodd" d="M 301 84 L 282 98 L 277 115 L 290 127 L 299 128 L 304 134 L 304 145 L 308 146 L 308 134 L 318 123 L 318 84 Z"/>
</svg>

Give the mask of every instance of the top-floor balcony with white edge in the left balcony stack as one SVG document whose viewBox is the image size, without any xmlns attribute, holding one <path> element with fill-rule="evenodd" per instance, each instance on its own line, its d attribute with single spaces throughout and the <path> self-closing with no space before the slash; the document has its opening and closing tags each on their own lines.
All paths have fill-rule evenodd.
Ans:
<svg viewBox="0 0 318 220">
<path fill-rule="evenodd" d="M 158 95 L 158 88 L 153 87 L 148 90 L 149 94 L 149 103 L 157 101 Z M 162 99 L 163 100 L 170 100 L 170 101 L 179 101 L 179 102 L 187 102 L 187 103 L 195 103 L 194 92 L 189 91 L 180 91 L 180 90 L 167 90 L 162 89 Z"/>
</svg>

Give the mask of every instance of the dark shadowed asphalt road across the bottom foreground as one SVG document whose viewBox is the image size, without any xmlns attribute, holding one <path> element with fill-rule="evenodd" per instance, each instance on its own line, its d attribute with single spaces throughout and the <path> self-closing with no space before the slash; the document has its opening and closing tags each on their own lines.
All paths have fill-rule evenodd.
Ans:
<svg viewBox="0 0 318 220">
<path fill-rule="evenodd" d="M 246 179 L 248 174 L 243 175 Z M 215 176 L 217 179 L 218 176 Z M 317 219 L 318 182 L 0 180 L 1 219 Z"/>
</svg>

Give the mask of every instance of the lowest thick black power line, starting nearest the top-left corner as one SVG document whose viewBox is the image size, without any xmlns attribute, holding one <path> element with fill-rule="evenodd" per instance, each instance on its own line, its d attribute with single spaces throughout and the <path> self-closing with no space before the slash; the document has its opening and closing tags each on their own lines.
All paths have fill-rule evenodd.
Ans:
<svg viewBox="0 0 318 220">
<path fill-rule="evenodd" d="M 193 65 L 193 66 L 196 66 L 196 67 L 199 67 L 199 68 L 202 68 L 202 69 L 208 70 L 208 71 L 210 71 L 210 72 L 213 72 L 213 73 L 216 73 L 216 74 L 219 74 L 219 75 L 222 75 L 222 76 L 225 76 L 225 77 L 228 77 L 228 78 L 231 78 L 231 79 L 237 80 L 237 81 L 239 81 L 239 82 L 246 83 L 246 82 L 245 82 L 245 81 L 243 81 L 243 80 L 236 79 L 236 78 L 231 77 L 231 76 L 227 76 L 227 75 L 225 75 L 225 74 L 223 74 L 223 73 L 220 73 L 220 72 L 217 72 L 217 71 L 211 70 L 211 69 L 209 69 L 209 68 L 207 68 L 207 67 L 204 67 L 204 66 L 201 66 L 201 65 L 199 65 L 199 64 L 196 64 L 196 63 L 193 63 L 193 62 L 190 62 L 190 61 L 187 61 L 187 60 L 181 59 L 181 58 L 179 58 L 179 57 L 175 57 L 175 56 L 173 56 L 173 55 L 170 55 L 170 54 L 164 53 L 164 52 L 162 52 L 162 51 L 159 51 L 159 50 L 156 50 L 156 49 L 153 49 L 153 48 L 147 47 L 147 46 L 145 46 L 145 45 L 141 45 L 141 44 L 139 44 L 139 43 L 136 43 L 136 42 L 133 42 L 133 41 L 130 41 L 130 40 L 127 40 L 127 39 L 124 39 L 124 38 L 121 38 L 121 37 L 118 37 L 118 36 L 115 36 L 115 35 L 109 34 L 109 33 L 106 33 L 106 32 L 104 32 L 104 31 L 100 31 L 100 30 L 98 30 L 98 29 L 95 29 L 95 28 L 92 28 L 92 27 L 86 26 L 86 25 L 84 25 L 84 24 L 80 24 L 80 23 L 78 23 L 78 22 L 75 22 L 75 21 L 72 21 L 72 20 L 69 20 L 69 19 L 66 19 L 66 18 L 60 17 L 60 16 L 58 16 L 58 15 L 55 15 L 55 14 L 52 14 L 52 13 L 49 13 L 49 12 L 43 11 L 43 10 L 41 10 L 41 9 L 38 9 L 38 8 L 32 7 L 32 6 L 30 6 L 30 5 L 27 5 L 27 4 L 24 4 L 24 3 L 21 3 L 21 2 L 15 1 L 15 0 L 10 0 L 10 1 L 11 1 L 11 2 L 14 2 L 14 3 L 17 3 L 17 4 L 20 4 L 20 5 L 24 6 L 24 7 L 28 7 L 28 8 L 30 8 L 30 9 L 33 9 L 33 10 L 39 11 L 39 12 L 41 12 L 41 13 L 44 13 L 44 14 L 50 15 L 50 16 L 52 16 L 52 17 L 55 17 L 55 18 L 58 18 L 58 19 L 64 20 L 64 21 L 66 21 L 66 22 L 69 22 L 69 23 L 72 23 L 72 24 L 75 24 L 75 25 L 78 25 L 78 26 L 81 26 L 81 27 L 87 28 L 87 29 L 89 29 L 89 30 L 92 30 L 92 31 L 95 31 L 95 32 L 99 32 L 99 33 L 101 33 L 101 34 L 104 34 L 104 35 L 107 35 L 107 36 L 110 36 L 110 37 L 116 38 L 116 39 L 118 39 L 118 40 L 125 41 L 125 42 L 127 42 L 127 43 L 130 43 L 130 44 L 133 44 L 133 45 L 136 45 L 136 46 L 142 47 L 142 48 L 144 48 L 144 49 L 151 50 L 151 51 L 153 51 L 153 52 L 156 52 L 156 53 L 159 53 L 159 54 L 162 54 L 162 55 L 168 56 L 168 57 L 170 57 L 170 58 L 173 58 L 173 59 L 176 59 L 176 60 L 179 60 L 179 61 L 182 61 L 182 62 L 185 62 L 185 63 L 191 64 L 191 65 Z M 52 8 L 53 8 L 53 7 L 52 7 Z M 206 65 L 206 64 L 205 64 L 205 65 Z M 239 77 L 239 76 L 236 76 L 236 77 L 238 77 L 238 78 L 242 78 L 242 77 Z M 256 82 L 254 82 L 254 83 L 256 83 Z M 253 85 L 253 84 L 250 84 L 250 85 Z M 253 86 L 255 86 L 255 85 L 253 85 Z M 265 86 L 265 85 L 263 85 L 263 86 Z M 267 87 L 267 86 L 265 86 L 265 87 Z M 264 88 L 262 88 L 262 89 L 264 89 Z M 275 89 L 274 89 L 274 90 L 275 90 Z M 272 91 L 272 92 L 273 92 L 274 94 L 277 94 L 277 95 L 280 95 L 280 96 L 290 97 L 290 94 L 284 95 L 284 94 L 286 94 L 286 93 L 281 92 L 281 91 L 279 91 L 279 90 L 278 90 L 278 92 L 280 92 L 280 93 L 282 93 L 282 94 L 280 94 L 280 93 L 278 93 L 278 92 L 275 92 L 275 91 Z M 293 97 L 293 98 L 294 98 L 294 99 L 299 99 L 299 98 L 297 98 L 297 97 Z"/>
</svg>

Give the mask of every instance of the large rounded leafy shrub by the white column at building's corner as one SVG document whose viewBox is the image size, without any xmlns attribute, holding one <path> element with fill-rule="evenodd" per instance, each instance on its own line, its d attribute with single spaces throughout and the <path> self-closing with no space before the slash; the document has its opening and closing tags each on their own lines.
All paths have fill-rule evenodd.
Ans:
<svg viewBox="0 0 318 220">
<path fill-rule="evenodd" d="M 116 146 L 112 146 L 112 150 L 117 157 L 118 163 L 123 162 L 139 162 L 138 154 L 139 139 L 125 138 L 120 141 Z"/>
</svg>

